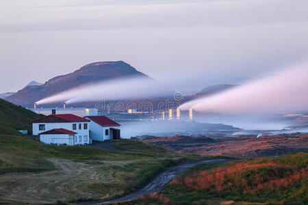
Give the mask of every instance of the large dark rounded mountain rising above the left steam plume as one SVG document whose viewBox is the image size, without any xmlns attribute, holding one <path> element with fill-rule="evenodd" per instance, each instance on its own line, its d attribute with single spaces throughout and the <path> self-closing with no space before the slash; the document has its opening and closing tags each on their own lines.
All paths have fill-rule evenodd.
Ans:
<svg viewBox="0 0 308 205">
<path fill-rule="evenodd" d="M 83 66 L 75 72 L 54 77 L 43 85 L 26 86 L 16 94 L 8 96 L 5 100 L 16 105 L 33 107 L 34 102 L 38 100 L 70 90 L 79 85 L 89 85 L 99 81 L 127 76 L 148 77 L 124 61 L 95 62 Z"/>
</svg>

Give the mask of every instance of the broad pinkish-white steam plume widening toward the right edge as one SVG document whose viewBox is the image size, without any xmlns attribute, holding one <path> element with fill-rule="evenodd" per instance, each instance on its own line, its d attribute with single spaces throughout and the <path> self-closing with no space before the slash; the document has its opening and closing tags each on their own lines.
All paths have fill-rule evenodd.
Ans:
<svg viewBox="0 0 308 205">
<path fill-rule="evenodd" d="M 191 100 L 179 108 L 228 114 L 308 111 L 308 63 L 268 74 L 213 96 Z"/>
</svg>

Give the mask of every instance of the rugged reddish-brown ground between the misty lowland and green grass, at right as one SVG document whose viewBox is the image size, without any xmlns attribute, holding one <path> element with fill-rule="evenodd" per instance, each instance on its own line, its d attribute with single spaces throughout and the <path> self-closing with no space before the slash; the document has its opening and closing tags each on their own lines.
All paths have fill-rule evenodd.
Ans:
<svg viewBox="0 0 308 205">
<path fill-rule="evenodd" d="M 214 130 L 211 130 L 211 133 L 214 133 Z M 181 135 L 145 137 L 142 141 L 185 154 L 223 155 L 236 158 L 276 156 L 290 152 L 303 152 L 308 148 L 308 135 L 302 133 L 264 135 L 258 138 L 256 135 L 228 137 L 223 134 L 216 136 L 207 134 L 205 136 L 207 137 Z M 209 138 L 209 136 L 213 137 Z"/>
</svg>

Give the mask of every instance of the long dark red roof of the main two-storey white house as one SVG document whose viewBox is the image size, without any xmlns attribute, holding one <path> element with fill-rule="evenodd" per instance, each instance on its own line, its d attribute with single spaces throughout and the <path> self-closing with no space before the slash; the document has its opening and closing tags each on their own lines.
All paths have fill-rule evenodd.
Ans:
<svg viewBox="0 0 308 205">
<path fill-rule="evenodd" d="M 47 115 L 37 120 L 32 121 L 33 123 L 53 123 L 53 122 L 90 122 L 85 118 L 81 118 L 73 114 L 59 114 L 59 115 Z"/>
</svg>

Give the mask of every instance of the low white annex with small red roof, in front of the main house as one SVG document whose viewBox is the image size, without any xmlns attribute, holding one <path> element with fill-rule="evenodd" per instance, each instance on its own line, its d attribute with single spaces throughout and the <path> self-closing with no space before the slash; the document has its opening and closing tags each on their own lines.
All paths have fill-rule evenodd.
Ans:
<svg viewBox="0 0 308 205">
<path fill-rule="evenodd" d="M 64 128 L 54 128 L 50 131 L 40 133 L 40 141 L 47 144 L 66 144 L 68 146 L 75 145 L 75 135 L 77 133 L 68 131 Z M 88 141 L 88 139 L 87 139 Z"/>
</svg>

